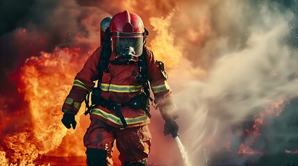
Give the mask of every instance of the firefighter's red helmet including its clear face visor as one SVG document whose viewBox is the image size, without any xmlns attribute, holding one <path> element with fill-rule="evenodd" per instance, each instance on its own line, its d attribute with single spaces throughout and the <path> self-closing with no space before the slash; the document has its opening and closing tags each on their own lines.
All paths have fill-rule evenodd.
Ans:
<svg viewBox="0 0 298 166">
<path fill-rule="evenodd" d="M 112 52 L 119 57 L 139 57 L 142 55 L 145 38 L 149 35 L 140 16 L 134 12 L 117 13 L 110 20 Z"/>
</svg>

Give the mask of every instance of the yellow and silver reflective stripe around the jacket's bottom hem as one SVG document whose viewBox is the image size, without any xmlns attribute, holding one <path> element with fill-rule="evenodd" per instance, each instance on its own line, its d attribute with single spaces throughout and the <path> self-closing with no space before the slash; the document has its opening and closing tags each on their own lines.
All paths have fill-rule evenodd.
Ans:
<svg viewBox="0 0 298 166">
<path fill-rule="evenodd" d="M 112 113 L 106 113 L 105 111 L 103 111 L 101 109 L 97 109 L 97 108 L 92 109 L 91 114 L 101 116 L 102 118 L 110 120 L 111 122 L 113 122 L 115 124 L 122 125 L 122 122 L 119 117 L 114 116 Z M 143 116 L 138 116 L 135 118 L 124 118 L 124 119 L 127 124 L 137 124 L 137 123 L 144 122 L 145 120 L 147 120 L 147 115 L 144 114 Z"/>
</svg>

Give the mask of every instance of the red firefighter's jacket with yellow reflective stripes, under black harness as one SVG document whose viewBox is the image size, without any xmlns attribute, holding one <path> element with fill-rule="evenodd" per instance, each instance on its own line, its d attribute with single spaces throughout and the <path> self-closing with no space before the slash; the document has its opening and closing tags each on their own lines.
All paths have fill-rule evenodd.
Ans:
<svg viewBox="0 0 298 166">
<path fill-rule="evenodd" d="M 85 62 L 83 68 L 74 78 L 72 90 L 67 95 L 63 104 L 63 112 L 78 113 L 81 103 L 85 100 L 88 93 L 92 91 L 98 80 L 98 64 L 101 55 L 101 47 L 92 53 Z M 151 90 L 154 93 L 154 102 L 158 104 L 160 113 L 164 119 L 177 118 L 176 107 L 172 102 L 172 91 L 167 84 L 167 79 L 160 70 L 160 63 L 154 59 L 152 50 L 146 46 L 147 56 L 147 77 L 150 82 Z M 110 61 L 115 60 L 115 55 L 110 56 Z M 115 103 L 129 102 L 131 98 L 142 91 L 142 84 L 136 82 L 136 76 L 140 73 L 138 63 L 135 64 L 110 64 L 104 71 L 102 82 L 98 83 L 101 89 L 101 98 Z M 121 107 L 121 112 L 128 124 L 128 127 L 141 126 L 149 124 L 150 120 L 142 109 L 133 109 L 131 107 Z M 174 113 L 174 114 L 173 114 Z M 97 107 L 90 112 L 90 118 L 103 120 L 114 127 L 122 127 L 122 122 L 117 116 L 115 109 Z"/>
</svg>

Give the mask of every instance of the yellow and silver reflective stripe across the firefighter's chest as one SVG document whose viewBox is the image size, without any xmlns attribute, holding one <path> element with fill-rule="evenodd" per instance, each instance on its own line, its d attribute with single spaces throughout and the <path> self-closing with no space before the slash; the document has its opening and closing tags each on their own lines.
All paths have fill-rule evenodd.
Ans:
<svg viewBox="0 0 298 166">
<path fill-rule="evenodd" d="M 131 93 L 138 92 L 142 89 L 142 85 L 133 86 L 133 85 L 116 85 L 116 84 L 101 84 L 102 91 L 113 91 L 119 93 Z"/>
</svg>

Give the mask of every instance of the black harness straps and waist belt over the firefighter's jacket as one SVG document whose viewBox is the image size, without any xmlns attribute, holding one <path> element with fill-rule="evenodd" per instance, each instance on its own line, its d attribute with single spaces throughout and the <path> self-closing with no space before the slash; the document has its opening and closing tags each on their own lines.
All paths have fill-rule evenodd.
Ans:
<svg viewBox="0 0 298 166">
<path fill-rule="evenodd" d="M 143 50 L 146 50 L 145 48 Z M 110 46 L 108 44 L 104 45 L 104 48 L 101 50 L 101 56 L 99 58 L 99 65 L 98 65 L 98 70 L 99 70 L 99 82 L 102 80 L 102 76 L 104 71 L 107 70 L 108 66 L 108 59 L 110 58 Z M 129 61 L 130 62 L 130 61 Z M 99 88 L 94 88 L 91 94 L 91 100 L 92 100 L 92 105 L 89 106 L 89 95 L 87 95 L 87 98 L 85 99 L 86 107 L 88 108 L 87 111 L 85 111 L 85 115 L 90 113 L 92 109 L 95 107 L 98 107 L 99 105 L 109 108 L 109 109 L 115 109 L 117 116 L 120 118 L 123 127 L 125 128 L 127 126 L 126 120 L 124 119 L 122 112 L 120 111 L 121 107 L 131 107 L 133 109 L 142 109 L 149 118 L 151 118 L 151 114 L 149 113 L 149 84 L 147 81 L 147 66 L 146 66 L 146 53 L 143 51 L 142 56 L 138 60 L 138 66 L 140 69 L 140 74 L 137 72 L 132 72 L 132 75 L 136 75 L 136 82 L 141 84 L 143 86 L 144 92 L 140 93 L 140 95 L 137 95 L 133 98 L 131 98 L 130 102 L 127 103 L 115 103 L 111 101 L 107 101 L 104 98 L 101 98 L 101 91 L 102 89 Z M 110 64 L 115 64 L 115 65 L 124 65 L 124 64 L 131 64 L 127 63 L 126 61 L 117 61 L 113 60 L 110 61 Z M 139 87 L 142 89 L 142 87 Z M 151 98 L 150 98 L 151 99 Z M 152 101 L 152 99 L 151 99 Z"/>
</svg>

